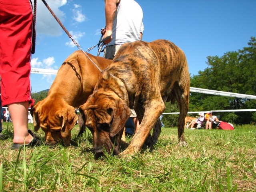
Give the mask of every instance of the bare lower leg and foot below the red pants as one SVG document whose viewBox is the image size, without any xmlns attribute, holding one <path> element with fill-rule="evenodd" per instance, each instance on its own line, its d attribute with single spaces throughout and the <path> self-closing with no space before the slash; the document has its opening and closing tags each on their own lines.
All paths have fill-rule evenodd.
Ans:
<svg viewBox="0 0 256 192">
<path fill-rule="evenodd" d="M 12 103 L 8 105 L 14 128 L 13 143 L 29 144 L 33 136 L 28 133 L 28 102 Z"/>
</svg>

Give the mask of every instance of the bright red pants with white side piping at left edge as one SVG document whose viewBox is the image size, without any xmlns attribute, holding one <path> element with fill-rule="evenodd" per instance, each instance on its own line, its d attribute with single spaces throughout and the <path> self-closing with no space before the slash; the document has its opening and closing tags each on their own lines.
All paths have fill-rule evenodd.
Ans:
<svg viewBox="0 0 256 192">
<path fill-rule="evenodd" d="M 30 0 L 0 0 L 2 105 L 31 101 L 33 12 Z"/>
</svg>

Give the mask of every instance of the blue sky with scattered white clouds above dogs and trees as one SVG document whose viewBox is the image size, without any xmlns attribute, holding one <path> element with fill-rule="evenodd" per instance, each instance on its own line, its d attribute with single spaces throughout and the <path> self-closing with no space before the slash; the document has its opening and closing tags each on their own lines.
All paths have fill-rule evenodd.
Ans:
<svg viewBox="0 0 256 192">
<path fill-rule="evenodd" d="M 86 51 L 105 26 L 104 0 L 46 0 Z M 248 46 L 256 36 L 256 0 L 136 0 L 144 14 L 142 40 L 166 39 L 186 54 L 189 72 L 207 67 L 207 56 L 222 56 Z M 36 53 L 32 67 L 56 69 L 78 48 L 41 0 L 37 1 Z M 90 50 L 96 55 L 97 48 Z M 100 56 L 103 56 L 101 54 Z M 50 88 L 56 75 L 31 74 L 32 92 Z"/>
</svg>

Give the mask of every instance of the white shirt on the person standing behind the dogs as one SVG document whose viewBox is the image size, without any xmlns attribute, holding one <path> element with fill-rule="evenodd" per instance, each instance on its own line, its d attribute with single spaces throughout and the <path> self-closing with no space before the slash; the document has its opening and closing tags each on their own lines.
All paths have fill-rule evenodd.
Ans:
<svg viewBox="0 0 256 192">
<path fill-rule="evenodd" d="M 134 0 L 121 0 L 113 21 L 112 40 L 107 46 L 140 40 L 140 32 L 144 31 L 142 21 L 143 12 L 140 5 Z"/>
</svg>

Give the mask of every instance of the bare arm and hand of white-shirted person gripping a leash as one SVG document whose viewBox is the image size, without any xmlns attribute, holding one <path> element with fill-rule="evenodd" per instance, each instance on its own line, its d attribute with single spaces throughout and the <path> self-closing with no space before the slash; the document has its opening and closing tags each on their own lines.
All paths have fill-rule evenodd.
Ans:
<svg viewBox="0 0 256 192">
<path fill-rule="evenodd" d="M 110 39 L 105 41 L 105 44 L 108 44 L 112 39 L 112 26 L 118 2 L 119 0 L 105 0 L 106 30 L 104 32 L 103 38 L 111 36 Z"/>
</svg>

